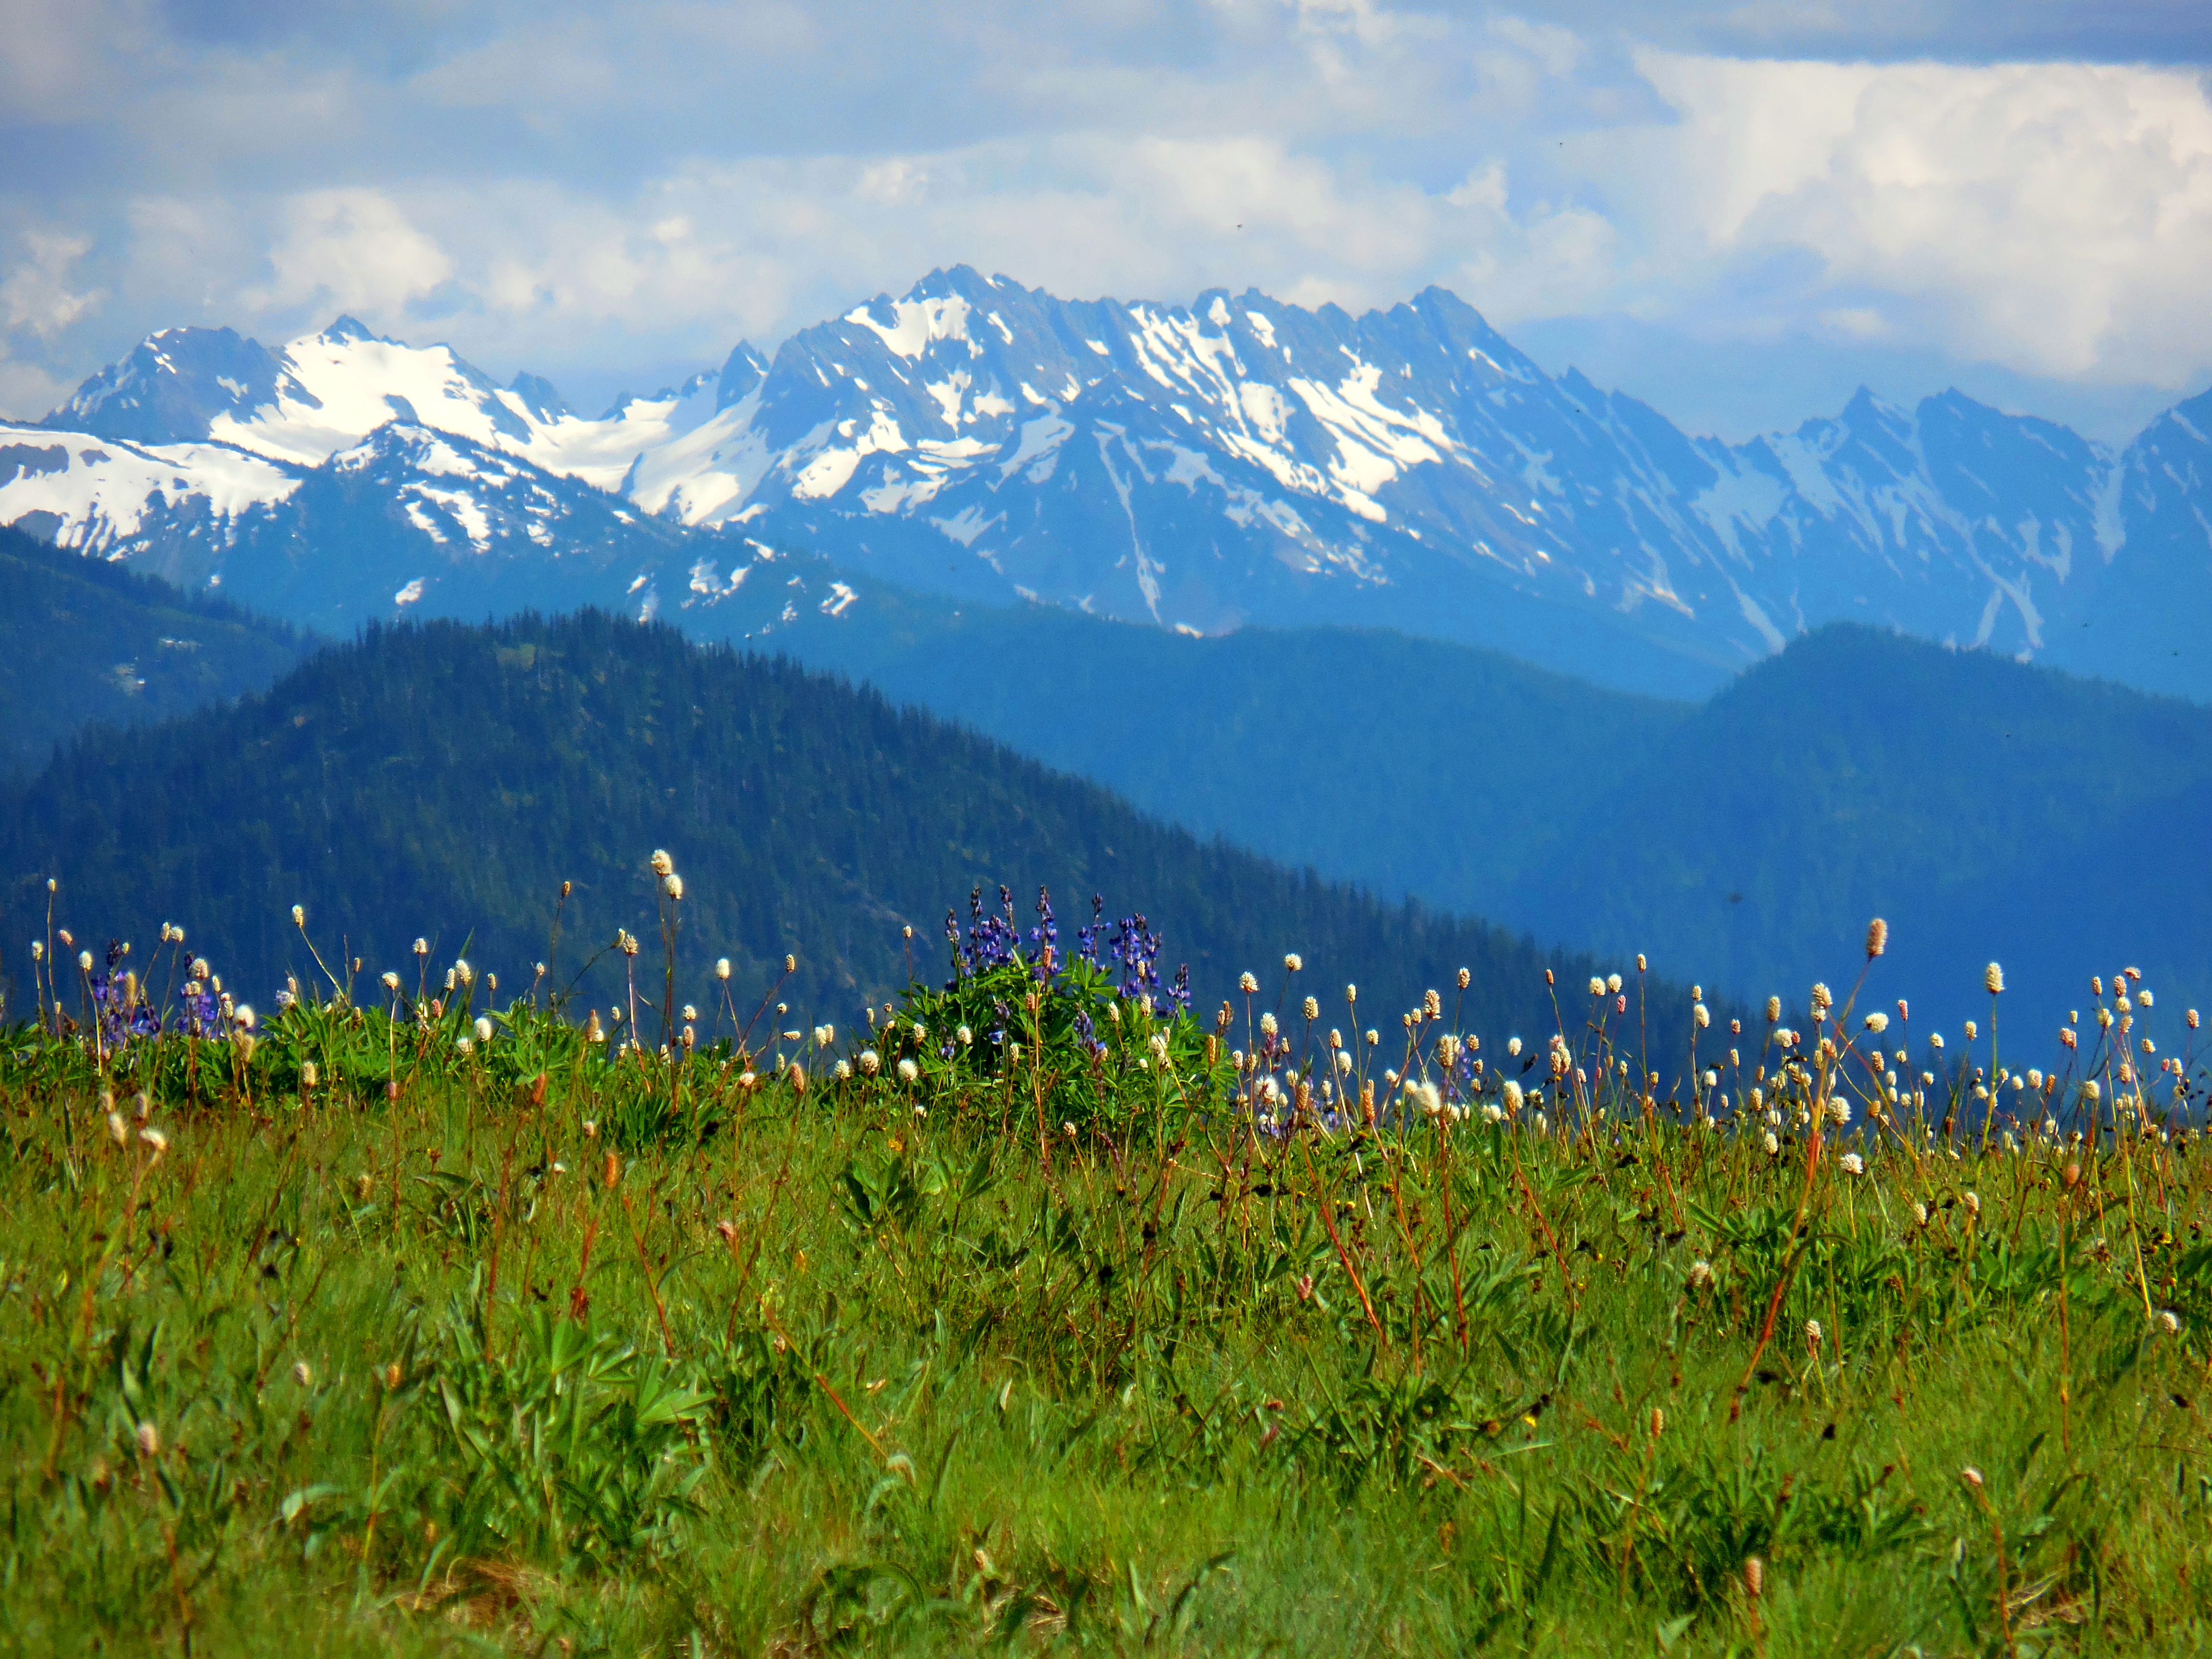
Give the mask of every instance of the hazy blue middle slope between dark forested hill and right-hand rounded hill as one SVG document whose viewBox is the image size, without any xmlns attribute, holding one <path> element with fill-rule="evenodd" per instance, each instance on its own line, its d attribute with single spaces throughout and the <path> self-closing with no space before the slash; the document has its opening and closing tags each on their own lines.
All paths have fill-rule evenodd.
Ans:
<svg viewBox="0 0 2212 1659">
<path fill-rule="evenodd" d="M 885 584 L 843 617 L 810 606 L 752 644 L 958 719 L 1201 836 L 1462 916 L 1515 914 L 1544 938 L 1559 933 L 1522 916 L 1520 883 L 1690 714 L 1398 633 L 1192 639 Z"/>
</svg>

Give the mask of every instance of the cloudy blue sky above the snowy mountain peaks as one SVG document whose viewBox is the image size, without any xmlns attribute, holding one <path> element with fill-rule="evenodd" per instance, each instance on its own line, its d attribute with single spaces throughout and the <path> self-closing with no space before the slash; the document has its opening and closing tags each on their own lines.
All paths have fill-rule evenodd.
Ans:
<svg viewBox="0 0 2212 1659">
<path fill-rule="evenodd" d="M 0 414 L 352 312 L 595 411 L 969 263 L 1436 283 L 1743 438 L 2212 385 L 2203 0 L 0 0 Z"/>
</svg>

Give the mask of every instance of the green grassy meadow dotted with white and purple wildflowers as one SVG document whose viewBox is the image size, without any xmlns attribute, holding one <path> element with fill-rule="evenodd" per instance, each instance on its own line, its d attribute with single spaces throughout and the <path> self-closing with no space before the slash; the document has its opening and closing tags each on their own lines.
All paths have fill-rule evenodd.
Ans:
<svg viewBox="0 0 2212 1659">
<path fill-rule="evenodd" d="M 2212 1648 L 2212 1248 L 2203 1152 L 2150 1128 L 2168 1073 L 2128 1086 L 2084 1026 L 1984 1126 L 1986 1033 L 1891 1099 L 1849 1006 L 1794 1077 L 1630 984 L 1486 1121 L 1498 1071 L 1440 1071 L 1449 987 L 1325 1015 L 1338 1093 L 1281 984 L 1152 1020 L 1082 967 L 1031 1004 L 1015 962 L 827 1044 L 737 1051 L 710 1009 L 679 1066 L 529 1002 L 465 1053 L 467 975 L 254 1042 L 15 1029 L 0 1644 Z M 1661 1029 L 1761 1091 L 1776 1152 L 1626 1086 Z M 1301 1075 L 1332 1093 L 1254 1135 L 1259 1075 L 1285 1119 Z M 2090 1077 L 2119 1130 L 2039 1139 L 2090 1128 Z"/>
</svg>

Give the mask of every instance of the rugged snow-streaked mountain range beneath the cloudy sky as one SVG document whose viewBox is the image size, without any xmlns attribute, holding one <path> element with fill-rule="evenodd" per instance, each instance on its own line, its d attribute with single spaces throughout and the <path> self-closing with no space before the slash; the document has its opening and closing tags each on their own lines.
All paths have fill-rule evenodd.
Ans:
<svg viewBox="0 0 2212 1659">
<path fill-rule="evenodd" d="M 2212 699 L 2212 394 L 2119 451 L 1955 392 L 1728 445 L 1544 374 L 1433 288 L 1354 319 L 956 268 L 599 418 L 349 319 L 281 349 L 166 330 L 0 422 L 0 522 L 338 630 L 584 602 L 703 622 L 805 549 L 1197 633 L 1387 624 L 1641 690 L 1858 619 Z"/>
</svg>

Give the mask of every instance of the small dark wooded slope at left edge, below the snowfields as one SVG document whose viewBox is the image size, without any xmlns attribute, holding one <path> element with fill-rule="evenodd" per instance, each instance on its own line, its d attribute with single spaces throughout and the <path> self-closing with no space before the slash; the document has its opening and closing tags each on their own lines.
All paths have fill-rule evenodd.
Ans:
<svg viewBox="0 0 2212 1659">
<path fill-rule="evenodd" d="M 312 644 L 228 604 L 0 529 L 0 776 L 88 723 L 144 726 L 261 690 Z"/>
</svg>

